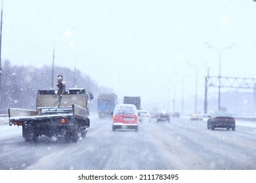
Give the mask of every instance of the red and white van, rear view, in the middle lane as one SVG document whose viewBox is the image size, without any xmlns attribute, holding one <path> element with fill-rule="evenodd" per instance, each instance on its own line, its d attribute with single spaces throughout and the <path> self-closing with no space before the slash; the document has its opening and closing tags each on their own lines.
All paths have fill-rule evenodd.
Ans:
<svg viewBox="0 0 256 183">
<path fill-rule="evenodd" d="M 135 129 L 138 131 L 138 111 L 133 104 L 117 104 L 113 113 L 112 130 Z"/>
</svg>

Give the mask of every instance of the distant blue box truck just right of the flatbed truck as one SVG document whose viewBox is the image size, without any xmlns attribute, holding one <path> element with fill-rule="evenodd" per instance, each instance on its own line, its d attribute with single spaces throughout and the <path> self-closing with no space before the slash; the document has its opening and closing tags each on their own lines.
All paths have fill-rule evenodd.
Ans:
<svg viewBox="0 0 256 183">
<path fill-rule="evenodd" d="M 97 103 L 98 117 L 112 117 L 116 104 L 117 95 L 115 93 L 100 93 Z"/>
</svg>

